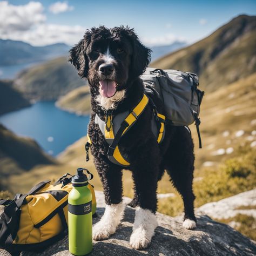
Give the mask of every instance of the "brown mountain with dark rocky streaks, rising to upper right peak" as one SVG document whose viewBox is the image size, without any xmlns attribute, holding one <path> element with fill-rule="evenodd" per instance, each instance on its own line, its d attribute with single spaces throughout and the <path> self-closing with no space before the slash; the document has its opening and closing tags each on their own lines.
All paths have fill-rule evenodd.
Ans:
<svg viewBox="0 0 256 256">
<path fill-rule="evenodd" d="M 241 15 L 203 40 L 173 52 L 151 66 L 197 73 L 207 91 L 256 71 L 256 16 Z"/>
</svg>

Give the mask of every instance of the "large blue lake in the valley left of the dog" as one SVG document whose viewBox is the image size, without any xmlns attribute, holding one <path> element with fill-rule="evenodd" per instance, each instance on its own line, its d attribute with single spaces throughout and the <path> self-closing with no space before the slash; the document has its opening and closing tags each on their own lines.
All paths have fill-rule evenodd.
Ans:
<svg viewBox="0 0 256 256">
<path fill-rule="evenodd" d="M 89 118 L 62 111 L 54 102 L 38 102 L 0 116 L 0 123 L 20 136 L 35 139 L 46 152 L 56 156 L 86 135 Z"/>
</svg>

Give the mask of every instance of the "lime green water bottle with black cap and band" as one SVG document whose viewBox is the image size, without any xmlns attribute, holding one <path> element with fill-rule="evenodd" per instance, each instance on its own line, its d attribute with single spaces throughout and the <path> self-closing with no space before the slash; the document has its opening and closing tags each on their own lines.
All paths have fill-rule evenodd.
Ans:
<svg viewBox="0 0 256 256">
<path fill-rule="evenodd" d="M 92 250 L 92 194 L 83 168 L 72 177 L 69 193 L 69 251 L 85 255 Z"/>
</svg>

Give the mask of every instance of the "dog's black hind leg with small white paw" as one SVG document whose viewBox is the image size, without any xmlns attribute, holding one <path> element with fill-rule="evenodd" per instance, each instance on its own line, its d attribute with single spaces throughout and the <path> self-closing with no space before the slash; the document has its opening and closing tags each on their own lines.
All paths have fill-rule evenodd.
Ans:
<svg viewBox="0 0 256 256">
<path fill-rule="evenodd" d="M 175 138 L 171 140 L 166 152 L 165 166 L 174 187 L 181 194 L 184 203 L 184 223 L 187 229 L 196 227 L 194 215 L 194 194 L 192 189 L 194 154 L 193 141 L 190 132 L 185 127 L 178 127 Z"/>
</svg>

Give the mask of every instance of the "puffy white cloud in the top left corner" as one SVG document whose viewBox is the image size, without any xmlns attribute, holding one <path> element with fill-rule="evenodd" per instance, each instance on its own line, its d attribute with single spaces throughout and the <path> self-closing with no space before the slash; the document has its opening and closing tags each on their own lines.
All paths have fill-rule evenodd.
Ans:
<svg viewBox="0 0 256 256">
<path fill-rule="evenodd" d="M 12 5 L 0 2 L 0 34 L 3 37 L 12 31 L 26 31 L 37 24 L 45 22 L 43 5 L 29 2 L 25 5 Z"/>
</svg>

